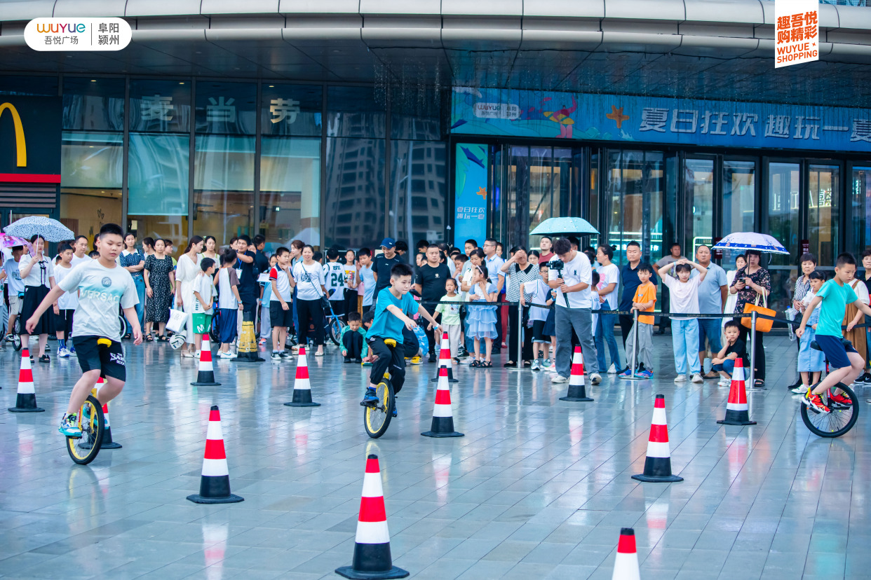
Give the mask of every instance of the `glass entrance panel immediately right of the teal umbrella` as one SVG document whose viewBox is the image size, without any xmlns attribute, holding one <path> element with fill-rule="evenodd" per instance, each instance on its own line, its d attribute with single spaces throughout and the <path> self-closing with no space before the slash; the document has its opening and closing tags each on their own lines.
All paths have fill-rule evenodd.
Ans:
<svg viewBox="0 0 871 580">
<path fill-rule="evenodd" d="M 611 150 L 607 158 L 608 243 L 614 261 L 625 263 L 626 243 L 641 244 L 645 257 L 662 257 L 665 171 L 659 151 Z"/>
</svg>

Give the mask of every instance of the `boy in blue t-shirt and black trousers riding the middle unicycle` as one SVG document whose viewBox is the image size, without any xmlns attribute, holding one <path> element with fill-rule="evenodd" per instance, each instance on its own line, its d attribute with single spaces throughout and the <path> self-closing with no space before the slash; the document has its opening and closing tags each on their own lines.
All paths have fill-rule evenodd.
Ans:
<svg viewBox="0 0 871 580">
<path fill-rule="evenodd" d="M 378 403 L 375 387 L 381 382 L 384 373 L 390 371 L 390 383 L 393 384 L 394 395 L 402 390 L 405 383 L 405 351 L 402 348 L 402 327 L 414 330 L 417 326 L 411 319 L 420 314 L 433 328 L 438 328 L 436 320 L 415 302 L 408 294 L 411 290 L 411 278 L 414 271 L 407 263 L 397 263 L 390 269 L 390 286 L 377 294 L 375 303 L 375 321 L 366 333 L 366 343 L 373 357 L 372 372 L 369 375 L 369 386 L 361 405 L 366 407 Z M 394 403 L 393 417 L 396 417 Z"/>
</svg>

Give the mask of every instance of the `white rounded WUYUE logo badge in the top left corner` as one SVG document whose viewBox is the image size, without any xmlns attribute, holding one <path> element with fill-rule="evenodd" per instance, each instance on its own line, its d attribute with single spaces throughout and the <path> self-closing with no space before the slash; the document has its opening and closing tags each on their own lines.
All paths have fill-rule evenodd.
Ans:
<svg viewBox="0 0 871 580">
<path fill-rule="evenodd" d="M 33 50 L 121 50 L 132 37 L 122 18 L 34 18 L 24 27 Z"/>
</svg>

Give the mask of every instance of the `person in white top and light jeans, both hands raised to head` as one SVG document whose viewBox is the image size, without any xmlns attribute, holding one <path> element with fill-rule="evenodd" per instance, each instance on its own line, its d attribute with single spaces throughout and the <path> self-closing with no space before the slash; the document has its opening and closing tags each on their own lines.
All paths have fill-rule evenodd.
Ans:
<svg viewBox="0 0 871 580">
<path fill-rule="evenodd" d="M 690 277 L 692 269 L 699 271 L 699 276 Z M 674 270 L 677 278 L 667 276 L 669 270 Z M 672 348 L 674 349 L 674 368 L 678 376 L 675 383 L 686 382 L 686 361 L 690 361 L 690 373 L 693 383 L 704 383 L 699 364 L 699 321 L 696 318 L 682 318 L 680 314 L 699 314 L 699 284 L 705 279 L 707 268 L 691 262 L 685 257 L 666 263 L 659 269 L 659 277 L 668 286 L 669 307 L 672 313 Z"/>
</svg>

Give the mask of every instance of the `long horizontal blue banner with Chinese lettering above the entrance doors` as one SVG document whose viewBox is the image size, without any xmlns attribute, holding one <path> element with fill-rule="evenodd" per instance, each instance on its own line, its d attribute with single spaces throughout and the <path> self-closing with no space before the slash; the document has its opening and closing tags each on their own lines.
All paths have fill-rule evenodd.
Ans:
<svg viewBox="0 0 871 580">
<path fill-rule="evenodd" d="M 867 151 L 871 150 L 871 110 L 455 87 L 450 131 L 713 147 Z"/>
</svg>

